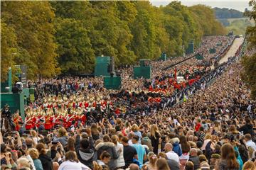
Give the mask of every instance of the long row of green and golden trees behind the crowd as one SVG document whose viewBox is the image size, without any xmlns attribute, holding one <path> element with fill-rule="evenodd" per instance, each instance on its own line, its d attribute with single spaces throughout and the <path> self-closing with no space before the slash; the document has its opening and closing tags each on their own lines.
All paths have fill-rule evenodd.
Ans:
<svg viewBox="0 0 256 170">
<path fill-rule="evenodd" d="M 191 40 L 224 35 L 208 6 L 173 1 L 3 1 L 1 80 L 8 67 L 28 66 L 28 78 L 93 72 L 95 57 L 114 57 L 117 67 L 161 52 L 178 56 Z"/>
</svg>

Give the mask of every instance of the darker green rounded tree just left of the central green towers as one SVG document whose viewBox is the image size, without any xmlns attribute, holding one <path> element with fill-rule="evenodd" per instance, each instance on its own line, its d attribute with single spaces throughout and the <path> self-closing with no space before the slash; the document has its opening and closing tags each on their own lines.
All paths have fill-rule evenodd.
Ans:
<svg viewBox="0 0 256 170">
<path fill-rule="evenodd" d="M 55 21 L 58 63 L 63 73 L 92 72 L 95 57 L 88 32 L 73 18 Z"/>
</svg>

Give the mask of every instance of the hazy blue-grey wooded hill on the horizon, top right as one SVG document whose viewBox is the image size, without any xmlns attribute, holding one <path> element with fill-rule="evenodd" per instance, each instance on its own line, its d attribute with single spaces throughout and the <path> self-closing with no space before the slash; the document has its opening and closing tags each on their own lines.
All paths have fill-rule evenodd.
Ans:
<svg viewBox="0 0 256 170">
<path fill-rule="evenodd" d="M 225 18 L 242 18 L 244 17 L 241 11 L 229 8 L 213 8 L 215 11 L 215 17 L 217 19 L 225 19 Z"/>
</svg>

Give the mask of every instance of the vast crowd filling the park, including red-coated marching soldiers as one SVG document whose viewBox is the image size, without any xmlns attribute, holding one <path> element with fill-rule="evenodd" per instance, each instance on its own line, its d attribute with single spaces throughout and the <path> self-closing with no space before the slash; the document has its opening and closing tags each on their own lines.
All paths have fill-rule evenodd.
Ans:
<svg viewBox="0 0 256 170">
<path fill-rule="evenodd" d="M 201 47 L 217 50 L 204 50 L 206 60 L 232 41 L 206 38 Z M 181 59 L 153 62 L 151 80 L 124 69 L 120 91 L 101 78 L 36 81 L 25 120 L 2 111 L 11 130 L 2 124 L 1 169 L 256 169 L 256 103 L 240 79 L 241 49 L 213 69 L 194 59 L 178 65 L 184 84 L 174 69 L 160 71 Z"/>
</svg>

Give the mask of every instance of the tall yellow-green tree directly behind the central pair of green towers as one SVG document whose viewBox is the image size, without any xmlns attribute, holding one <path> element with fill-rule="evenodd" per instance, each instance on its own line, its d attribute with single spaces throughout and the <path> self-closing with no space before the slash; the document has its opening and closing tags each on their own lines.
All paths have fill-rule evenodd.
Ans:
<svg viewBox="0 0 256 170">
<path fill-rule="evenodd" d="M 124 18 L 120 15 L 122 3 L 117 1 L 91 1 L 92 8 L 95 9 L 94 30 L 92 31 L 91 42 L 95 50 L 95 56 L 105 55 L 114 57 L 114 63 L 132 64 L 135 61 L 135 55 L 129 49 L 132 41 L 132 34 L 129 30 L 127 21 L 132 21 L 134 16 Z M 119 4 L 121 3 L 121 4 Z M 119 4 L 119 5 L 118 5 Z M 125 6 L 126 8 L 132 5 Z M 134 11 L 134 9 L 129 9 Z M 123 20 L 121 20 L 123 19 Z"/>
</svg>

